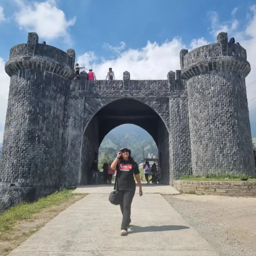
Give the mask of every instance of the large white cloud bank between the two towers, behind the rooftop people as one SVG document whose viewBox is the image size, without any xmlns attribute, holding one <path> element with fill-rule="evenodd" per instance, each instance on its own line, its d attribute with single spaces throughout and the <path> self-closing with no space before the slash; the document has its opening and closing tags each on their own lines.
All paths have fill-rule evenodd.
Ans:
<svg viewBox="0 0 256 256">
<path fill-rule="evenodd" d="M 191 46 L 199 47 L 207 44 L 204 38 L 193 39 Z M 174 38 L 162 44 L 148 42 L 144 48 L 129 49 L 120 52 L 114 60 L 103 60 L 96 63 L 96 57 L 88 58 L 89 54 L 79 55 L 80 66 L 94 70 L 97 79 L 105 79 L 108 68 L 112 67 L 116 79 L 123 79 L 123 72 L 129 71 L 131 79 L 166 79 L 170 70 L 180 69 L 180 50 L 186 48 L 181 38 Z M 92 54 L 92 53 L 90 53 Z"/>
</svg>

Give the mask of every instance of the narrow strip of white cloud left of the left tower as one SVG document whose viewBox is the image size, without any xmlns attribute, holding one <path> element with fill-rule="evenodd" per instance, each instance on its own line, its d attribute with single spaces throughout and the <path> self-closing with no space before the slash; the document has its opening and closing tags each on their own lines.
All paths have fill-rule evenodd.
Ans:
<svg viewBox="0 0 256 256">
<path fill-rule="evenodd" d="M 4 127 L 7 102 L 9 95 L 10 77 L 5 73 L 4 69 L 5 62 L 0 57 L 0 127 Z M 2 142 L 2 134 L 0 130 L 0 142 Z"/>
</svg>

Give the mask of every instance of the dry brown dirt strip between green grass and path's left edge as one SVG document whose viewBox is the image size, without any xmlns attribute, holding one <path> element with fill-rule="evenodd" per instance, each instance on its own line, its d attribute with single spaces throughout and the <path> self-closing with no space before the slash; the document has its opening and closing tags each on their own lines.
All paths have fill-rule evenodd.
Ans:
<svg viewBox="0 0 256 256">
<path fill-rule="evenodd" d="M 0 256 L 5 256 L 14 250 L 22 242 L 26 241 L 37 230 L 42 228 L 47 222 L 52 220 L 60 212 L 63 212 L 71 204 L 85 197 L 85 194 L 77 194 L 71 197 L 67 202 L 42 210 L 33 215 L 32 221 L 22 221 L 15 230 L 11 231 L 8 238 L 0 239 Z"/>
</svg>

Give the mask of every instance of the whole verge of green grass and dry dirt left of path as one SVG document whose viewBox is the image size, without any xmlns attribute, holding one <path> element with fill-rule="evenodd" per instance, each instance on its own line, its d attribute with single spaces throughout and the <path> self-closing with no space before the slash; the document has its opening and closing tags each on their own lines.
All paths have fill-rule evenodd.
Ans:
<svg viewBox="0 0 256 256">
<path fill-rule="evenodd" d="M 0 215 L 0 256 L 5 256 L 60 212 L 87 194 L 61 190 L 34 203 L 21 203 Z"/>
</svg>

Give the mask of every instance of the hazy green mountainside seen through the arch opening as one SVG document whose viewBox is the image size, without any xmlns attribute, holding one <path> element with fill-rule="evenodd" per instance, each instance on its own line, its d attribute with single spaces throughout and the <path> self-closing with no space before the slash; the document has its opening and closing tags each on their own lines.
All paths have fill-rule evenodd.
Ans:
<svg viewBox="0 0 256 256">
<path fill-rule="evenodd" d="M 138 164 L 143 159 L 143 148 L 144 158 L 148 157 L 149 153 L 153 155 L 158 153 L 153 138 L 144 129 L 133 124 L 123 124 L 113 129 L 103 139 L 99 148 L 99 168 L 102 167 L 102 162 L 107 160 L 108 157 L 109 161 L 116 158 L 117 151 L 122 147 L 132 151 L 131 155 Z M 106 151 L 108 151 L 109 156 L 105 153 Z"/>
</svg>

